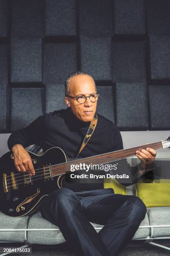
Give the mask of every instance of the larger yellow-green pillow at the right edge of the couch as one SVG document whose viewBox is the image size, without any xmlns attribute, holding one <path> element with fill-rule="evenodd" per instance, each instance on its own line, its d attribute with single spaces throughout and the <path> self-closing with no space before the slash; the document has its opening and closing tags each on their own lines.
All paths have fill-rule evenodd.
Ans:
<svg viewBox="0 0 170 256">
<path fill-rule="evenodd" d="M 153 183 L 136 183 L 136 195 L 146 207 L 170 206 L 170 179 L 154 179 Z"/>
</svg>

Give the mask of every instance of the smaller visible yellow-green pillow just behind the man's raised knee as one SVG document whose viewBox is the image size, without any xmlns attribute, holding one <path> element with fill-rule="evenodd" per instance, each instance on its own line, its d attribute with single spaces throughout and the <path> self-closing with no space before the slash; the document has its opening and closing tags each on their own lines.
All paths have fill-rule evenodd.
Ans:
<svg viewBox="0 0 170 256">
<path fill-rule="evenodd" d="M 127 195 L 126 187 L 119 184 L 116 179 L 104 179 L 104 188 L 112 188 L 115 194 Z"/>
</svg>

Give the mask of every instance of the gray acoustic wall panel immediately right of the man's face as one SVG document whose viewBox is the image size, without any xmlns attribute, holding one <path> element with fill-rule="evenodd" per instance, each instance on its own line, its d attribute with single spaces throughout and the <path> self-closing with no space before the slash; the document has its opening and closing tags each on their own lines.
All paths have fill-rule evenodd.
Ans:
<svg viewBox="0 0 170 256">
<path fill-rule="evenodd" d="M 114 90 L 112 86 L 97 86 L 97 92 L 100 94 L 97 101 L 97 113 L 103 115 L 115 123 L 114 115 Z"/>
</svg>

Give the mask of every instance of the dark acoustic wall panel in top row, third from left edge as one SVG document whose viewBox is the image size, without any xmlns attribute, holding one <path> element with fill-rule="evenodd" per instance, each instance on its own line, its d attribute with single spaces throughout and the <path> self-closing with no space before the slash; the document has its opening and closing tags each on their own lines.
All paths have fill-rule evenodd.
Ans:
<svg viewBox="0 0 170 256">
<path fill-rule="evenodd" d="M 45 35 L 76 35 L 77 5 L 76 0 L 45 1 Z"/>
</svg>

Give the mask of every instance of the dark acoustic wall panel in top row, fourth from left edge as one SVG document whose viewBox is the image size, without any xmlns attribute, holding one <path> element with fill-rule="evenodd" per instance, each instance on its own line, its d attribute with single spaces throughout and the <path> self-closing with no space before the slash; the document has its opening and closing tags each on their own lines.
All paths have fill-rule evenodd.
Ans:
<svg viewBox="0 0 170 256">
<path fill-rule="evenodd" d="M 112 36 L 112 0 L 80 0 L 80 35 Z"/>
</svg>

